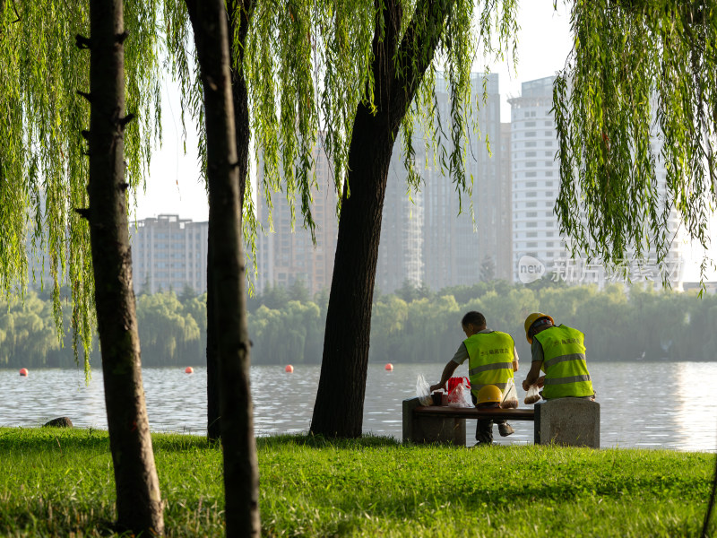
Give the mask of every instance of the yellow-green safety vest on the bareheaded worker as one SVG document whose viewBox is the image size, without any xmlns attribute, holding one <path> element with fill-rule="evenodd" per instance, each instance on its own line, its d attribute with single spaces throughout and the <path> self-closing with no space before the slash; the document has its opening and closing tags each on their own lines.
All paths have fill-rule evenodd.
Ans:
<svg viewBox="0 0 717 538">
<path fill-rule="evenodd" d="M 486 385 L 505 388 L 513 377 L 514 342 L 510 334 L 500 331 L 477 333 L 463 341 L 468 350 L 468 377 L 471 392 L 478 397 L 478 391 Z"/>
</svg>

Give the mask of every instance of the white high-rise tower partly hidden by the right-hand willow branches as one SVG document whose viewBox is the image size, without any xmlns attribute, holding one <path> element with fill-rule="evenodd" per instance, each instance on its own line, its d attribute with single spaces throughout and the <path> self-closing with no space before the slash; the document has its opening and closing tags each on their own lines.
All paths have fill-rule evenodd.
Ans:
<svg viewBox="0 0 717 538">
<path fill-rule="evenodd" d="M 566 238 L 560 237 L 557 216 L 553 208 L 557 200 L 559 162 L 557 132 L 552 108 L 554 76 L 523 82 L 520 97 L 511 104 L 511 174 L 513 181 L 513 270 L 514 280 L 533 280 L 536 269 L 552 273 L 554 280 L 572 283 L 624 282 L 624 276 L 608 273 L 598 261 L 570 259 L 566 253 Z M 659 141 L 655 138 L 652 150 L 659 155 Z M 658 190 L 664 192 L 666 171 L 658 158 L 656 162 Z M 661 282 L 661 269 L 667 270 L 674 289 L 681 290 L 685 242 L 678 233 L 679 219 L 672 213 L 669 230 L 676 233 L 667 259 L 658 266 L 653 253 L 647 254 L 643 265 L 625 261 L 624 270 L 633 282 Z M 523 257 L 529 256 L 529 257 Z M 525 261 L 527 259 L 527 262 Z M 523 260 L 523 262 L 522 262 Z M 531 273 L 524 273 L 531 269 Z"/>
</svg>

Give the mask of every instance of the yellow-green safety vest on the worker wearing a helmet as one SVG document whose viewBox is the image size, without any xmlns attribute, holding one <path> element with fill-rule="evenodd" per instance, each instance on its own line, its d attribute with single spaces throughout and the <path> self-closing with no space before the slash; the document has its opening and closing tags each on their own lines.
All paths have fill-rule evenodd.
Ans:
<svg viewBox="0 0 717 538">
<path fill-rule="evenodd" d="M 543 348 L 545 387 L 543 397 L 592 396 L 592 381 L 585 364 L 584 335 L 577 329 L 558 325 L 536 334 Z"/>
</svg>

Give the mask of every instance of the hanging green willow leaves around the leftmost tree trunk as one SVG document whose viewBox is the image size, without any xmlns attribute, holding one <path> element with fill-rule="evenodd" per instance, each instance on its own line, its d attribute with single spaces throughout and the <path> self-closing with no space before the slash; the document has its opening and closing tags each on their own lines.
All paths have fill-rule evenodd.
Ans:
<svg viewBox="0 0 717 538">
<path fill-rule="evenodd" d="M 89 91 L 90 56 L 75 46 L 76 35 L 89 33 L 88 9 L 66 0 L 0 3 L 0 287 L 23 292 L 28 256 L 48 253 L 57 335 L 64 332 L 59 289 L 67 283 L 73 347 L 82 343 L 86 365 L 94 325 L 90 236 L 73 210 L 88 204 L 81 132 L 90 108 L 78 92 Z M 138 119 L 125 131 L 134 193 L 160 124 L 159 14 L 156 2 L 125 3 L 126 104 Z"/>
</svg>

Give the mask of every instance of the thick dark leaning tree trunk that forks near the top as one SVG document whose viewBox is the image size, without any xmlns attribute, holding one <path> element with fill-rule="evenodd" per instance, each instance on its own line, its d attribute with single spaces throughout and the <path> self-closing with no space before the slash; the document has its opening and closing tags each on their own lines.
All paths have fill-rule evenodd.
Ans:
<svg viewBox="0 0 717 538">
<path fill-rule="evenodd" d="M 376 112 L 360 103 L 354 119 L 347 178 L 350 195 L 344 185 L 324 357 L 311 420 L 315 434 L 356 438 L 362 432 L 378 242 L 393 141 L 433 59 L 453 4 L 454 0 L 419 0 L 400 53 L 394 56 L 401 3 L 375 2 L 372 72 Z M 394 57 L 399 58 L 401 69 L 396 68 Z"/>
</svg>

